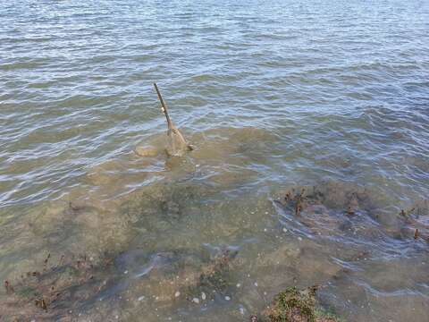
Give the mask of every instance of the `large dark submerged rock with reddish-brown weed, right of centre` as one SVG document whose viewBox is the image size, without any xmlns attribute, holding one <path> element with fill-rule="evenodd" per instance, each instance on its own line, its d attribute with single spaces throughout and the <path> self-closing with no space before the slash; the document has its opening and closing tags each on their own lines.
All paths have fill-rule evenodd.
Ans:
<svg viewBox="0 0 429 322">
<path fill-rule="evenodd" d="M 284 219 L 301 233 L 327 238 L 376 240 L 391 233 L 380 229 L 380 205 L 374 191 L 341 182 L 292 188 L 275 200 Z"/>
</svg>

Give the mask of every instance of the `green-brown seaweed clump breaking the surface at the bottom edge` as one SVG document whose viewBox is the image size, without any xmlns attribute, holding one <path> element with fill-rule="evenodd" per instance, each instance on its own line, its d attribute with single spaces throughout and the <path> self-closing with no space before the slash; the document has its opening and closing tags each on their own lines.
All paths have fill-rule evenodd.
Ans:
<svg viewBox="0 0 429 322">
<path fill-rule="evenodd" d="M 280 292 L 265 316 L 270 322 L 339 322 L 332 314 L 316 308 L 316 290 L 315 286 L 302 291 L 290 287 Z"/>
</svg>

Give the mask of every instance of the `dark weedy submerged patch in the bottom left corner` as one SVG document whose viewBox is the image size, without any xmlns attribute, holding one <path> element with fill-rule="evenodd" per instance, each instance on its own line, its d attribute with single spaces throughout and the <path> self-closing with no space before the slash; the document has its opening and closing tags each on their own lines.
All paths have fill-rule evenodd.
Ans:
<svg viewBox="0 0 429 322">
<path fill-rule="evenodd" d="M 63 318 L 104 290 L 114 276 L 111 268 L 108 257 L 95 260 L 86 255 L 61 256 L 54 263 L 48 254 L 41 270 L 4 281 L 7 300 L 0 303 L 0 312 L 11 321 Z"/>
</svg>

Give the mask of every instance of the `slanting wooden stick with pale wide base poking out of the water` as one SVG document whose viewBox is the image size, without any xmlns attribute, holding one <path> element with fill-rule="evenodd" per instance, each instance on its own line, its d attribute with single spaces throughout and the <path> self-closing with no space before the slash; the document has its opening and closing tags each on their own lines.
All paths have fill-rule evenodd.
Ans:
<svg viewBox="0 0 429 322">
<path fill-rule="evenodd" d="M 167 119 L 167 147 L 166 152 L 171 157 L 180 157 L 187 150 L 192 150 L 192 147 L 189 146 L 188 142 L 185 140 L 181 131 L 179 131 L 172 120 L 170 119 L 170 115 L 168 114 L 167 106 L 165 105 L 164 99 L 161 96 L 161 92 L 159 91 L 156 83 L 154 83 L 156 94 L 158 94 L 159 101 L 161 102 L 161 110 L 163 111 L 165 118 Z"/>
</svg>

